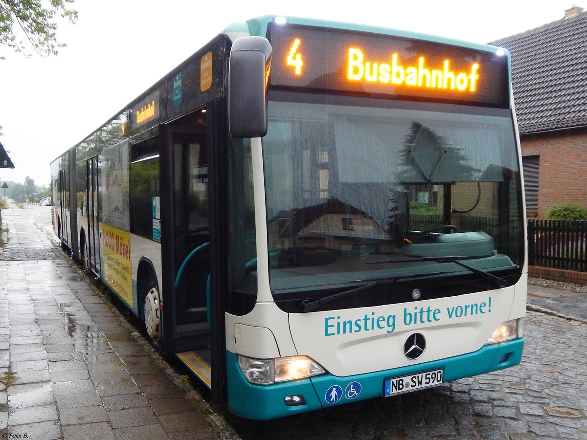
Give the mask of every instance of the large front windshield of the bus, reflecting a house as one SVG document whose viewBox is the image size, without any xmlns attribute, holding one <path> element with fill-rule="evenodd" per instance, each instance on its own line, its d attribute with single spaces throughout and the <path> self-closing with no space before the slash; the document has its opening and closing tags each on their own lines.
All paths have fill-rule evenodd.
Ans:
<svg viewBox="0 0 587 440">
<path fill-rule="evenodd" d="M 349 290 L 332 308 L 400 302 L 416 285 L 434 297 L 497 288 L 481 272 L 517 281 L 523 225 L 510 110 L 270 99 L 269 275 L 284 309 Z"/>
</svg>

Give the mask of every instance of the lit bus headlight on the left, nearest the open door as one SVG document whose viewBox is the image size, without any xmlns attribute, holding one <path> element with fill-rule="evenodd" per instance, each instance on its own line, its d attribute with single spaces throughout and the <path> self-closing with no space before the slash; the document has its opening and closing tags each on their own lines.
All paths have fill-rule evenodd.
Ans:
<svg viewBox="0 0 587 440">
<path fill-rule="evenodd" d="M 257 385 L 275 384 L 326 373 L 324 368 L 308 356 L 255 359 L 239 354 L 238 366 L 245 378 Z"/>
</svg>

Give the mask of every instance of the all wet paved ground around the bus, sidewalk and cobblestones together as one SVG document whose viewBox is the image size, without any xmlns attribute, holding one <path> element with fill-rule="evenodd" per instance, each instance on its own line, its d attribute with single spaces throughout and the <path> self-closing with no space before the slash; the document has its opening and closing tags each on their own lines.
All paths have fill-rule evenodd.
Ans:
<svg viewBox="0 0 587 440">
<path fill-rule="evenodd" d="M 226 422 L 167 374 L 64 258 L 47 227 L 50 207 L 2 216 L 3 438 L 587 439 L 583 286 L 532 280 L 517 367 L 273 421 Z"/>
</svg>

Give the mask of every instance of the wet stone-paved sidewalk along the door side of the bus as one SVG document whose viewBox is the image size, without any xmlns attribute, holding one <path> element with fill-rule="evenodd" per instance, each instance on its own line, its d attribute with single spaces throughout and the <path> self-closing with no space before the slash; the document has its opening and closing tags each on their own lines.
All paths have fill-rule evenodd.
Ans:
<svg viewBox="0 0 587 440">
<path fill-rule="evenodd" d="M 2 211 L 0 437 L 218 438 L 205 408 L 33 223 L 39 209 L 50 218 L 49 207 Z"/>
</svg>

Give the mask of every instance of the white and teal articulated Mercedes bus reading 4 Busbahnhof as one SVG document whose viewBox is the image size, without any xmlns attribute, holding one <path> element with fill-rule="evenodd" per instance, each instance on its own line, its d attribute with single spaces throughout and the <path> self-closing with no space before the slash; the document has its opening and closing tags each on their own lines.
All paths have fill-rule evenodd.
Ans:
<svg viewBox="0 0 587 440">
<path fill-rule="evenodd" d="M 241 417 L 511 367 L 510 80 L 492 46 L 237 23 L 53 161 L 55 231 Z"/>
</svg>

